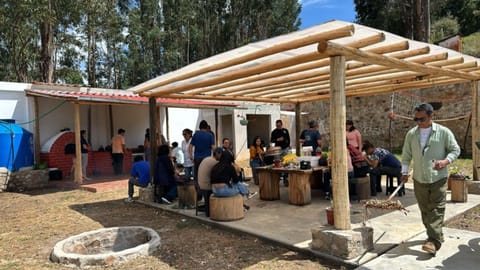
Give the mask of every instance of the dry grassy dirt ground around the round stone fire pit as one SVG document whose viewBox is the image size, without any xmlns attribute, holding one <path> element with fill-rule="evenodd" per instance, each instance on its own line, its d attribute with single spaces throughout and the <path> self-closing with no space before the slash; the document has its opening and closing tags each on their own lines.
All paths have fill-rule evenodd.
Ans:
<svg viewBox="0 0 480 270">
<path fill-rule="evenodd" d="M 0 193 L 0 269 L 71 269 L 49 261 L 56 242 L 102 227 L 130 225 L 156 230 L 161 248 L 153 256 L 106 269 L 347 269 L 255 237 L 222 231 L 139 203 L 125 203 L 125 194 L 126 189 Z M 447 226 L 480 232 L 480 206 Z"/>
</svg>

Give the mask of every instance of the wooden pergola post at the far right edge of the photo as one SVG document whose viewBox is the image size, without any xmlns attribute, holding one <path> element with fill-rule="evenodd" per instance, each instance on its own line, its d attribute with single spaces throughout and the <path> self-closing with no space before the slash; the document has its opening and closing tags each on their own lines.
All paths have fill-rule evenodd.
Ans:
<svg viewBox="0 0 480 270">
<path fill-rule="evenodd" d="M 475 142 L 480 141 L 480 81 L 472 81 L 472 164 L 473 179 L 479 180 L 480 149 Z"/>
</svg>

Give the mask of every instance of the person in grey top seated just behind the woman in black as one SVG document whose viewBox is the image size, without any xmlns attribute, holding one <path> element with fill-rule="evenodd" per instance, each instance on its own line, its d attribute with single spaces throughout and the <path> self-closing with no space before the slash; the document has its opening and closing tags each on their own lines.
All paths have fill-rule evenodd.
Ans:
<svg viewBox="0 0 480 270">
<path fill-rule="evenodd" d="M 200 192 L 205 200 L 205 216 L 210 216 L 209 199 L 212 195 L 212 185 L 210 183 L 212 168 L 218 163 L 222 156 L 223 149 L 217 147 L 213 151 L 213 156 L 207 157 L 200 162 L 198 166 L 198 185 Z"/>
</svg>

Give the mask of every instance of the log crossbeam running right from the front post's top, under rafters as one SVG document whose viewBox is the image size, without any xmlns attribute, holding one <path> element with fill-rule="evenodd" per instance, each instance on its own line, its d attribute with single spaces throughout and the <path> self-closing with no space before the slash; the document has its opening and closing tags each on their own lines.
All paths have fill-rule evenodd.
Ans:
<svg viewBox="0 0 480 270">
<path fill-rule="evenodd" d="M 321 53 L 326 53 L 328 55 L 344 55 L 347 58 L 355 59 L 357 61 L 384 65 L 391 68 L 401 69 L 401 70 L 410 70 L 419 73 L 426 73 L 432 75 L 441 75 L 441 76 L 450 76 L 452 78 L 462 78 L 466 80 L 479 80 L 480 76 L 469 74 L 460 71 L 442 69 L 433 66 L 425 66 L 422 64 L 417 64 L 409 61 L 399 60 L 396 58 L 386 57 L 383 55 L 378 55 L 370 52 L 365 52 L 359 49 L 354 49 L 351 47 L 345 47 L 330 41 L 321 41 L 318 45 L 318 51 Z"/>
</svg>

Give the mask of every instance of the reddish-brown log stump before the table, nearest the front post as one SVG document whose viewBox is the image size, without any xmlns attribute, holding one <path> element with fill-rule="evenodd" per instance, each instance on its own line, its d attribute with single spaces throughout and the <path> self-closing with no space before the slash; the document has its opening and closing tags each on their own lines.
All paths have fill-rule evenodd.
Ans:
<svg viewBox="0 0 480 270">
<path fill-rule="evenodd" d="M 306 205 L 311 201 L 310 175 L 291 173 L 288 184 L 288 202 L 293 205 Z"/>
</svg>

